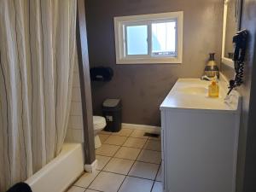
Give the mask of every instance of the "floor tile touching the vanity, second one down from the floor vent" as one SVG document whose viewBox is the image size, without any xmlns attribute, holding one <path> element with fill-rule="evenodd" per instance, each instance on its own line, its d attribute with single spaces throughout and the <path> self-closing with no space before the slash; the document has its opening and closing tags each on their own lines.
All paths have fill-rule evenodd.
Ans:
<svg viewBox="0 0 256 192">
<path fill-rule="evenodd" d="M 161 152 L 143 149 L 140 155 L 138 156 L 137 160 L 147 162 L 147 163 L 160 164 Z"/>
</svg>

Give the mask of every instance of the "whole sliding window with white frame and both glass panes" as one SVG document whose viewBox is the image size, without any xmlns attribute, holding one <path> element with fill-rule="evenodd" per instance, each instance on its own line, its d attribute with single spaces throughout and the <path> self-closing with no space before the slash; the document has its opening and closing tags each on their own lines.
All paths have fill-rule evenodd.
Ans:
<svg viewBox="0 0 256 192">
<path fill-rule="evenodd" d="M 117 64 L 181 63 L 183 12 L 114 18 Z"/>
</svg>

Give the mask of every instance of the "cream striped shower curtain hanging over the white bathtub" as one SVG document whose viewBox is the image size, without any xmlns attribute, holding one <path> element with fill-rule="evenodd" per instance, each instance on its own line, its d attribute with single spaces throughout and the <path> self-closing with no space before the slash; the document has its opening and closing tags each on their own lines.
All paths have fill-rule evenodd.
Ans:
<svg viewBox="0 0 256 192">
<path fill-rule="evenodd" d="M 76 6 L 75 0 L 0 0 L 0 192 L 61 151 Z"/>
</svg>

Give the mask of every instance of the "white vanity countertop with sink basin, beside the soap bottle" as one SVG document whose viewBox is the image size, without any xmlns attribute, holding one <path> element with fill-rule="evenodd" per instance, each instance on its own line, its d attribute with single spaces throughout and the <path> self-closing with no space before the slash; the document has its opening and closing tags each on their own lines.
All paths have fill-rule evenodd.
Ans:
<svg viewBox="0 0 256 192">
<path fill-rule="evenodd" d="M 227 84 L 219 81 L 219 97 L 211 98 L 207 96 L 208 85 L 210 81 L 201 79 L 177 79 L 176 84 L 166 96 L 166 99 L 160 105 L 160 110 L 170 109 L 199 109 L 210 112 L 229 112 L 236 113 L 241 103 L 241 96 L 236 90 L 230 93 L 230 101 L 225 102 L 227 94 Z M 191 91 L 190 88 L 195 88 Z M 188 91 L 183 91 L 188 90 Z"/>
</svg>

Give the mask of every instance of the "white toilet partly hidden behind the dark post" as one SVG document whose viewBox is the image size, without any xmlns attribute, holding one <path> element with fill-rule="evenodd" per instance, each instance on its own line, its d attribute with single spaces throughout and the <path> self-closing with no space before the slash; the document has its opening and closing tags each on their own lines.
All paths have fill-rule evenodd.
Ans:
<svg viewBox="0 0 256 192">
<path fill-rule="evenodd" d="M 102 131 L 106 126 L 106 119 L 101 116 L 93 116 L 93 129 L 94 129 L 94 142 L 95 142 L 95 148 L 100 148 L 102 146 L 100 137 L 98 136 L 98 133 Z"/>
</svg>

